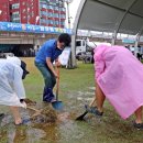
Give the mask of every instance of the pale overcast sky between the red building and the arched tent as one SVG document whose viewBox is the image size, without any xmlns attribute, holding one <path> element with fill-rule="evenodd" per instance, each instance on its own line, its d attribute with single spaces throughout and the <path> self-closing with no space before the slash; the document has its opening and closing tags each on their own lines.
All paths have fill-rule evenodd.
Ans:
<svg viewBox="0 0 143 143">
<path fill-rule="evenodd" d="M 73 23 L 74 23 L 79 3 L 80 3 L 80 0 L 73 0 L 73 2 L 69 3 L 69 16 L 73 18 L 70 19 L 70 28 L 73 28 Z M 68 26 L 68 22 L 66 22 L 66 25 Z"/>
</svg>

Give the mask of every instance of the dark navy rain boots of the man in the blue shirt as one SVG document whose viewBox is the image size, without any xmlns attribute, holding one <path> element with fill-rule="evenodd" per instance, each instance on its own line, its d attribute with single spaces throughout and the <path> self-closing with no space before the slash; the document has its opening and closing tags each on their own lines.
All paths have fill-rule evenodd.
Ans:
<svg viewBox="0 0 143 143">
<path fill-rule="evenodd" d="M 55 100 L 55 96 L 53 94 L 53 90 L 52 88 L 44 88 L 44 91 L 43 91 L 43 101 L 46 101 L 46 102 L 52 102 Z"/>
</svg>

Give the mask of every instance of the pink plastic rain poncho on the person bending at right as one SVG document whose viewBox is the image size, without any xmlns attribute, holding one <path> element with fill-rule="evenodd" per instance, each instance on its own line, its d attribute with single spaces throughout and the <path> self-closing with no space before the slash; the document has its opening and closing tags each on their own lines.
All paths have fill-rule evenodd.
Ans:
<svg viewBox="0 0 143 143">
<path fill-rule="evenodd" d="M 143 106 L 143 65 L 123 46 L 95 48 L 95 78 L 106 98 L 123 118 Z"/>
</svg>

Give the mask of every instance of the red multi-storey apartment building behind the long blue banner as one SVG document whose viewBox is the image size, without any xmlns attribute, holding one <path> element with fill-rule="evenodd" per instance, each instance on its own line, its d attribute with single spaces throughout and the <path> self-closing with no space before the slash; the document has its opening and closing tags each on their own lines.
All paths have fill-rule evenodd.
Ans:
<svg viewBox="0 0 143 143">
<path fill-rule="evenodd" d="M 63 0 L 0 0 L 0 21 L 65 28 Z"/>
</svg>

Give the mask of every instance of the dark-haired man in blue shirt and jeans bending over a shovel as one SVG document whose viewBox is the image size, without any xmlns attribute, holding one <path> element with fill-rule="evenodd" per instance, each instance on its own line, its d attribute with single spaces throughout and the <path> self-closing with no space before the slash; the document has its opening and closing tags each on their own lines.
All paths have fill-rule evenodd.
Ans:
<svg viewBox="0 0 143 143">
<path fill-rule="evenodd" d="M 66 46 L 69 46 L 72 42 L 70 35 L 62 33 L 58 38 L 46 41 L 38 50 L 35 56 L 35 66 L 43 75 L 45 87 L 43 91 L 43 101 L 54 102 L 55 96 L 53 88 L 56 84 L 56 78 L 59 78 L 54 69 L 53 63 L 59 66 L 58 56 L 62 54 Z"/>
</svg>

